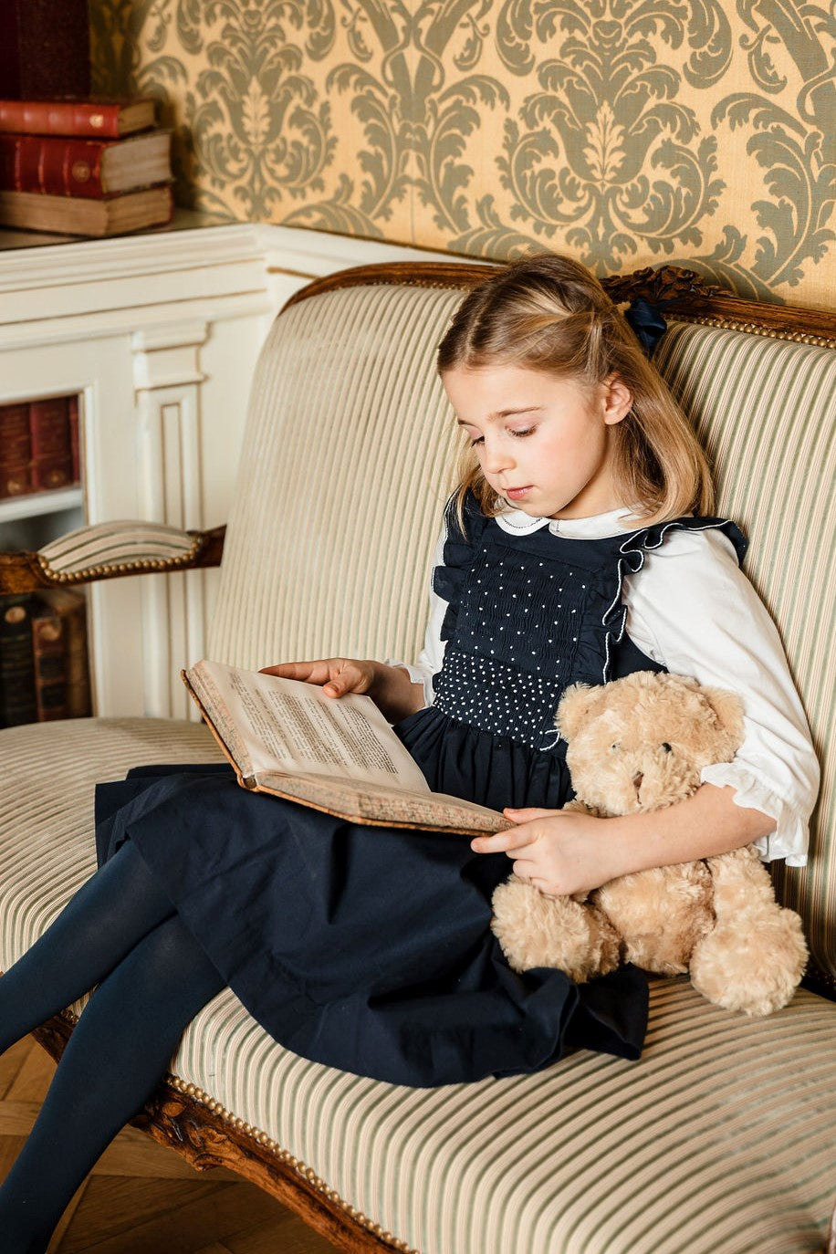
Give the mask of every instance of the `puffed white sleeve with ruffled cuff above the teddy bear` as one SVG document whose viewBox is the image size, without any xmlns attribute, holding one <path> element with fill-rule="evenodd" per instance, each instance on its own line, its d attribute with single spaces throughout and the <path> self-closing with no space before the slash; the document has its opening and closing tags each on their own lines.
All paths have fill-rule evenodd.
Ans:
<svg viewBox="0 0 836 1254">
<path fill-rule="evenodd" d="M 775 820 L 757 841 L 763 859 L 803 867 L 818 762 L 777 628 L 731 542 L 717 529 L 672 533 L 629 577 L 624 601 L 627 631 L 654 661 L 739 695 L 743 744 L 702 780 Z"/>
</svg>

